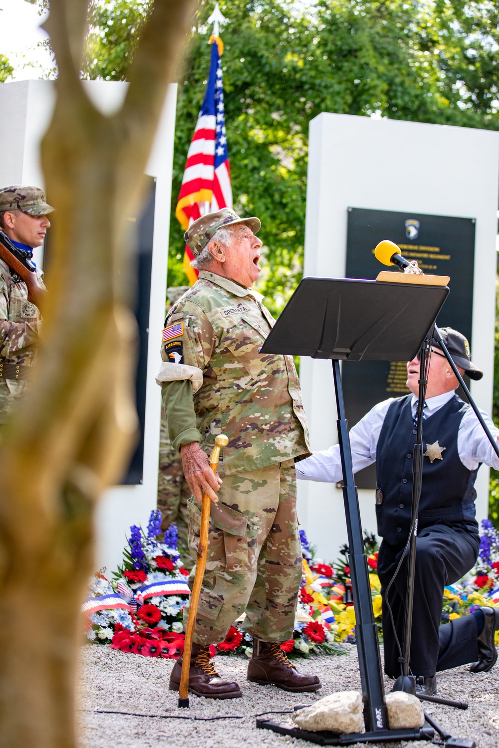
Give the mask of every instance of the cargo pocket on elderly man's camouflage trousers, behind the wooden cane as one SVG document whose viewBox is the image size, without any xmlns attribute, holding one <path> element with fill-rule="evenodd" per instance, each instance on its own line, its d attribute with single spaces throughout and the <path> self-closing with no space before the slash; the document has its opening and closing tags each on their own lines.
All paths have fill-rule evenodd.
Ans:
<svg viewBox="0 0 499 748">
<path fill-rule="evenodd" d="M 194 497 L 189 499 L 189 548 L 199 546 L 201 510 Z M 242 512 L 222 502 L 212 503 L 209 515 L 206 571 L 223 570 L 229 574 L 248 571 L 248 519 Z"/>
</svg>

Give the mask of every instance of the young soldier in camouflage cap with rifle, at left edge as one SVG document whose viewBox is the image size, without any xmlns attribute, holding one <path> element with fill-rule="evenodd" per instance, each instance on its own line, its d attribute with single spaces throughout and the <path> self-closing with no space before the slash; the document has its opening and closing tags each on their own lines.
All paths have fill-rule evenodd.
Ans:
<svg viewBox="0 0 499 748">
<path fill-rule="evenodd" d="M 38 187 L 13 185 L 0 189 L 0 227 L 19 249 L 32 251 L 43 245 L 50 226 L 52 206 Z M 43 288 L 43 273 L 37 269 Z M 0 424 L 24 396 L 36 365 L 40 310 L 28 301 L 22 278 L 0 260 Z"/>
</svg>

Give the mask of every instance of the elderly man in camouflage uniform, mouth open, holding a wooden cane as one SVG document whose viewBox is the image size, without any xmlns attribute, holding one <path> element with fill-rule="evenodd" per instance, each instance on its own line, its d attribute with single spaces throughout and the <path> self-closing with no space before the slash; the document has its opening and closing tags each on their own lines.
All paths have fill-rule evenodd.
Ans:
<svg viewBox="0 0 499 748">
<path fill-rule="evenodd" d="M 193 494 L 194 559 L 203 491 L 212 500 L 189 677 L 189 690 L 211 699 L 241 696 L 215 671 L 209 645 L 242 613 L 253 637 L 248 680 L 297 692 L 320 688 L 316 675 L 299 673 L 281 650 L 293 636 L 301 581 L 295 462 L 310 452 L 293 358 L 260 354 L 274 319 L 251 290 L 260 275 L 259 229 L 258 218 L 224 208 L 186 231 L 199 280 L 168 313 L 157 378 Z M 223 482 L 207 456 L 220 433 L 229 438 L 218 466 Z M 186 606 L 184 622 L 187 615 Z M 180 659 L 171 690 L 179 690 L 181 669 Z"/>
</svg>

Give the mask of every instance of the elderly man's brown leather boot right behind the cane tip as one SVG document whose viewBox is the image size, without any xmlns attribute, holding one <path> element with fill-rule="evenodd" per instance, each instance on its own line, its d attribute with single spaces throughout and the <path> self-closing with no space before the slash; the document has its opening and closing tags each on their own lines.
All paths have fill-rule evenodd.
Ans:
<svg viewBox="0 0 499 748">
<path fill-rule="evenodd" d="M 182 675 L 182 660 L 179 657 L 175 661 L 170 675 L 170 690 L 180 689 L 180 677 Z M 189 669 L 189 691 L 196 696 L 205 696 L 206 699 L 239 699 L 241 690 L 236 683 L 222 681 L 215 670 L 215 666 L 209 659 L 209 646 L 192 642 L 191 667 Z"/>
</svg>

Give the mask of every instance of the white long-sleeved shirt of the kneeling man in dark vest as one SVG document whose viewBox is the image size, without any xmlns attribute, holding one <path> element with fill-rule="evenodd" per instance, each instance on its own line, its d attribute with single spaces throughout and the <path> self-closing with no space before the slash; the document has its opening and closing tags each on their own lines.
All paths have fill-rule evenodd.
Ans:
<svg viewBox="0 0 499 748">
<path fill-rule="evenodd" d="M 425 400 L 424 415 L 428 419 L 446 402 L 453 397 L 454 390 L 446 392 L 436 397 L 427 397 Z M 352 447 L 353 471 L 357 473 L 368 465 L 376 462 L 376 449 L 378 447 L 379 434 L 382 430 L 383 421 L 387 414 L 388 408 L 394 398 L 379 402 L 374 408 L 371 408 L 364 418 L 350 429 L 350 444 Z M 412 415 L 416 412 L 417 398 L 413 395 L 411 401 Z M 496 429 L 491 418 L 485 411 L 480 411 L 487 426 L 489 426 L 492 436 L 499 435 L 499 429 Z M 424 425 L 423 425 L 423 445 Z M 457 451 L 459 459 L 468 470 L 476 470 L 481 462 L 489 465 L 491 468 L 499 470 L 499 458 L 492 445 L 489 442 L 485 432 L 480 425 L 480 421 L 474 414 L 472 408 L 469 408 L 462 417 L 457 433 Z M 336 483 L 343 479 L 341 471 L 340 446 L 335 444 L 323 452 L 314 452 L 311 457 L 297 462 L 295 465 L 296 477 L 301 480 L 315 480 L 324 483 Z"/>
</svg>

